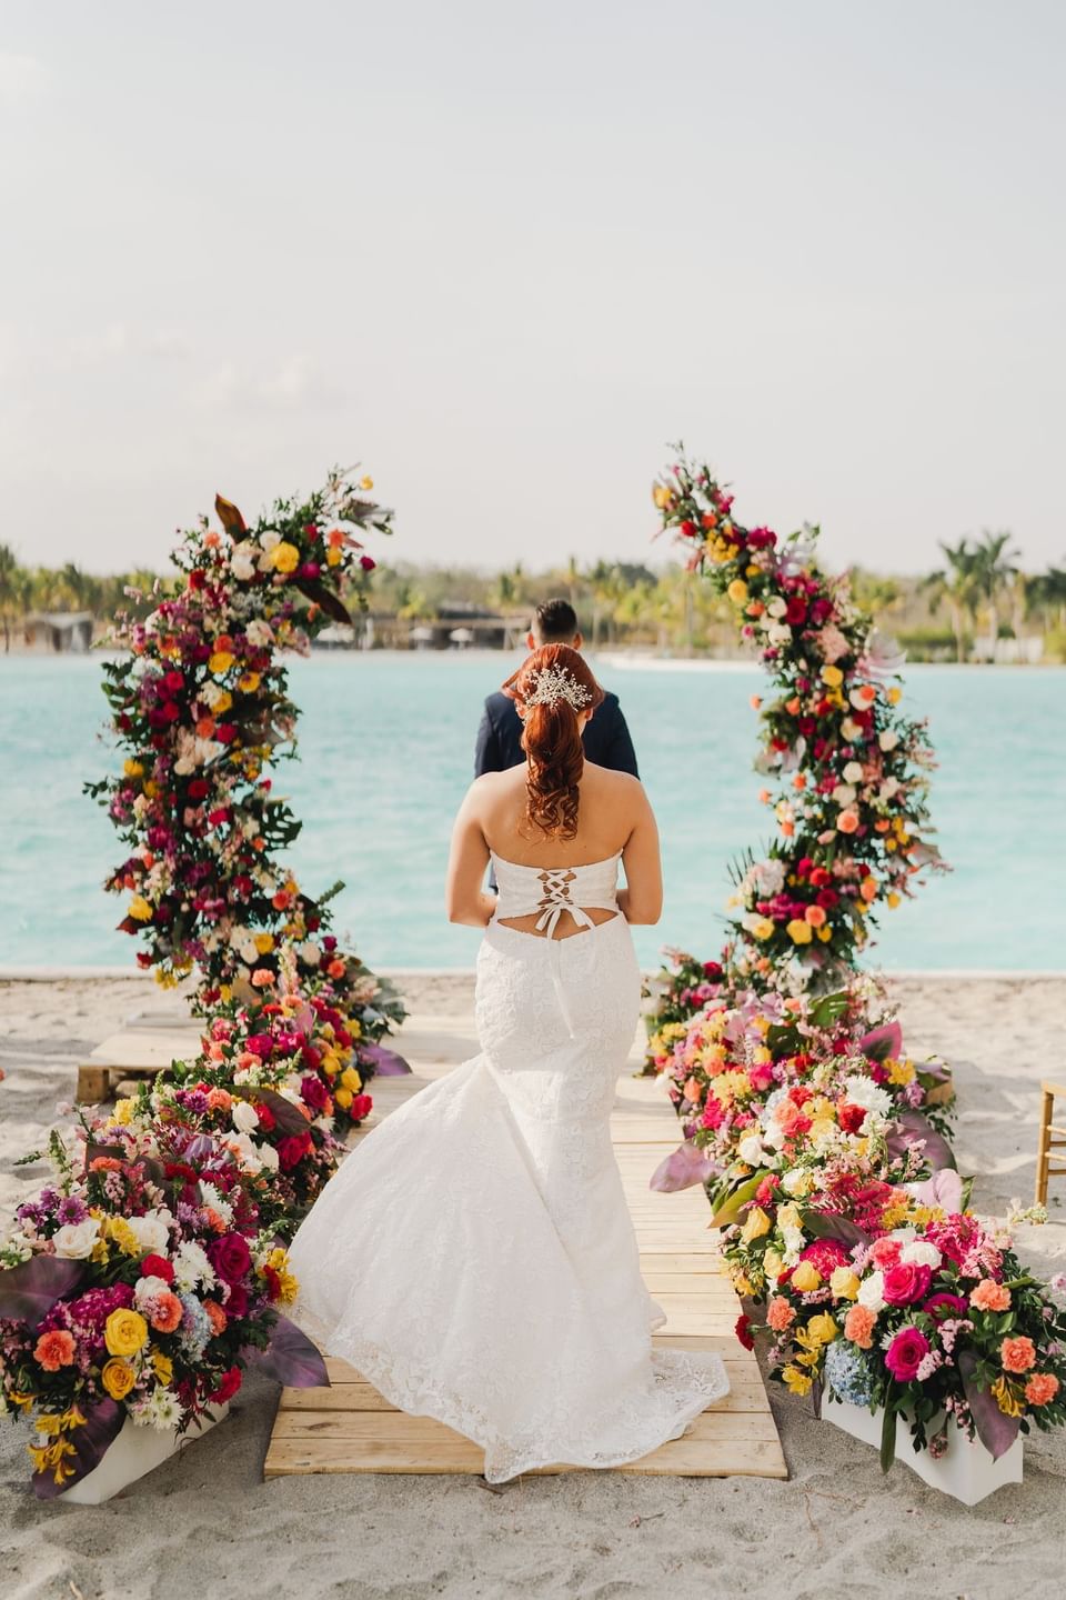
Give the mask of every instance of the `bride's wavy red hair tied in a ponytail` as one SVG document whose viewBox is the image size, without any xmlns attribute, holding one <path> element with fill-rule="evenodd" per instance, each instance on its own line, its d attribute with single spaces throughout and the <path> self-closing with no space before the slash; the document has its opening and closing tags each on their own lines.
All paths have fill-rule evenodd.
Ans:
<svg viewBox="0 0 1066 1600">
<path fill-rule="evenodd" d="M 542 672 L 561 674 L 564 682 L 572 680 L 579 691 L 588 696 L 582 701 L 582 712 L 593 712 L 601 706 L 604 691 L 585 658 L 571 645 L 542 645 L 503 685 L 503 693 L 510 694 L 526 714 L 523 728 L 523 750 L 529 757 L 526 818 L 543 834 L 574 838 L 577 786 L 585 770 L 579 712 L 564 696 L 558 696 L 551 706 L 527 704 L 527 696 L 537 691 Z M 575 698 L 580 699 L 580 693 Z"/>
</svg>

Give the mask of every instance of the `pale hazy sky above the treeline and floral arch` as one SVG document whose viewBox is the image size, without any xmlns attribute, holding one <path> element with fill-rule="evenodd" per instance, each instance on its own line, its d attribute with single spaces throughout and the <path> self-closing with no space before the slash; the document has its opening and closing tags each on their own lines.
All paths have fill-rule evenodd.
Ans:
<svg viewBox="0 0 1066 1600">
<path fill-rule="evenodd" d="M 1066 558 L 1066 10 L 0 0 L 0 539 L 161 566 L 361 462 L 384 554 Z"/>
</svg>

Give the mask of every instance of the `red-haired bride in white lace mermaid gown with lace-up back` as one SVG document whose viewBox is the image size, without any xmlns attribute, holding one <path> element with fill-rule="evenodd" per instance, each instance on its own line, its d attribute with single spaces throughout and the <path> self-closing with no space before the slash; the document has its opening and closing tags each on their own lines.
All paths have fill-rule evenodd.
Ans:
<svg viewBox="0 0 1066 1600">
<path fill-rule="evenodd" d="M 451 920 L 484 928 L 481 1054 L 361 1141 L 291 1250 L 296 1322 L 483 1446 L 497 1483 L 636 1461 L 729 1389 L 716 1355 L 652 1350 L 665 1318 L 611 1147 L 641 995 L 628 923 L 662 907 L 655 818 L 636 778 L 583 758 L 603 690 L 575 650 L 545 645 L 503 688 L 526 765 L 471 786 L 447 866 Z"/>
</svg>

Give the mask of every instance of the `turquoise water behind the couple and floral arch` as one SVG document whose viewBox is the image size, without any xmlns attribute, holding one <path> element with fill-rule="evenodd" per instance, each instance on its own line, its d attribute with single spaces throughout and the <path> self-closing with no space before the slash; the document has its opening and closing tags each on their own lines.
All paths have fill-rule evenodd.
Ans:
<svg viewBox="0 0 1066 1600">
<path fill-rule="evenodd" d="M 470 778 L 483 696 L 507 656 L 320 654 L 292 664 L 300 762 L 275 787 L 304 832 L 292 864 L 310 891 L 337 877 L 337 931 L 371 965 L 468 966 L 478 933 L 441 912 L 451 819 Z M 756 669 L 601 664 L 622 696 L 663 835 L 666 906 L 636 930 L 644 965 L 662 944 L 721 942 L 726 864 L 767 837 L 751 771 Z M 133 965 L 101 880 L 120 859 L 105 814 L 82 795 L 113 755 L 99 734 L 99 659 L 0 658 L 2 965 Z M 914 667 L 906 707 L 938 749 L 933 816 L 954 866 L 887 912 L 887 968 L 1063 970 L 1066 818 L 1063 691 L 1048 670 Z"/>
</svg>

